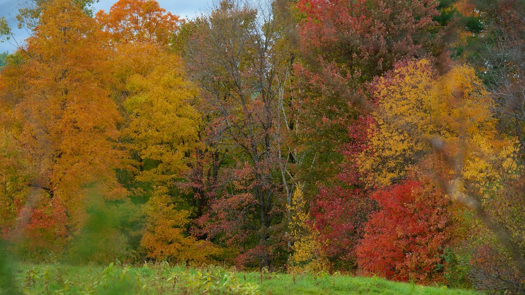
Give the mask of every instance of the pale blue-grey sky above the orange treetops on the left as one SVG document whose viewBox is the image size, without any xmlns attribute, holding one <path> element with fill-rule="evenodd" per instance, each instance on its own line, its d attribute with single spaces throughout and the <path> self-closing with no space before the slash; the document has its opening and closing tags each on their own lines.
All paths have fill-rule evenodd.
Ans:
<svg viewBox="0 0 525 295">
<path fill-rule="evenodd" d="M 18 8 L 27 0 L 0 0 L 0 17 L 4 16 L 9 22 L 10 27 L 13 29 L 15 40 L 19 44 L 23 44 L 24 39 L 27 38 L 28 33 L 24 29 L 17 29 L 16 15 Z M 93 7 L 95 12 L 100 9 L 109 10 L 113 3 L 118 0 L 99 0 Z M 179 15 L 183 18 L 190 19 L 203 12 L 209 10 L 212 0 L 157 0 L 161 7 L 168 10 L 169 12 Z M 13 52 L 16 50 L 16 43 L 14 40 L 4 41 L 0 43 L 0 52 Z"/>
</svg>

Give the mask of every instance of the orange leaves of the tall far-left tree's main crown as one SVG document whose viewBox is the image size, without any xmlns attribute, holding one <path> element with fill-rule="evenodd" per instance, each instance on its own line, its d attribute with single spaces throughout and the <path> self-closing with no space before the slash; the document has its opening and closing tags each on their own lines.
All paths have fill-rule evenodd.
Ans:
<svg viewBox="0 0 525 295">
<path fill-rule="evenodd" d="M 22 141 L 45 154 L 41 182 L 67 202 L 82 186 L 98 181 L 118 186 L 113 169 L 122 154 L 114 149 L 120 115 L 103 88 L 107 59 L 95 21 L 75 4 L 46 4 L 28 40 L 35 57 L 24 66 L 28 87 L 17 107 L 25 128 Z M 96 114 L 96 115 L 94 115 Z"/>
</svg>

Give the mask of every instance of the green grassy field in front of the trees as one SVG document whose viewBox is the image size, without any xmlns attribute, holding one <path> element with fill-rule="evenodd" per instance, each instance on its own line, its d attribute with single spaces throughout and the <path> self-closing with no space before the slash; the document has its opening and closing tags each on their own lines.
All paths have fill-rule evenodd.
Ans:
<svg viewBox="0 0 525 295">
<path fill-rule="evenodd" d="M 212 266 L 18 265 L 2 272 L 1 294 L 477 294 L 380 278 L 235 272 Z"/>
</svg>

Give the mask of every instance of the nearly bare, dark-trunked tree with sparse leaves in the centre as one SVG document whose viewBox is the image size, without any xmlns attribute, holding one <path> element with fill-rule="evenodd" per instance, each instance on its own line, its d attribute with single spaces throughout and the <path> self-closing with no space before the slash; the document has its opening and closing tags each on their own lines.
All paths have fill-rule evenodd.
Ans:
<svg viewBox="0 0 525 295">
<path fill-rule="evenodd" d="M 246 245 L 244 251 L 257 249 L 254 257 L 260 267 L 270 265 L 269 246 L 274 223 L 279 220 L 272 215 L 282 209 L 276 206 L 279 189 L 272 171 L 278 167 L 278 89 L 285 81 L 281 67 L 289 56 L 276 46 L 278 37 L 269 7 L 257 11 L 223 1 L 199 27 L 186 54 L 192 78 L 201 89 L 202 110 L 213 118 L 207 132 L 237 163 L 232 173 L 244 178 L 228 184 L 232 189 L 224 194 L 226 199 L 215 199 L 205 218 L 214 219 L 217 226 L 227 222 L 221 220 L 227 215 L 216 214 L 213 208 L 219 204 L 237 208 L 240 203 L 230 203 L 235 199 L 255 206 L 254 215 L 246 208 L 243 217 L 230 221 L 244 220 L 243 227 L 253 228 L 241 237 L 244 241 L 240 245 Z"/>
</svg>

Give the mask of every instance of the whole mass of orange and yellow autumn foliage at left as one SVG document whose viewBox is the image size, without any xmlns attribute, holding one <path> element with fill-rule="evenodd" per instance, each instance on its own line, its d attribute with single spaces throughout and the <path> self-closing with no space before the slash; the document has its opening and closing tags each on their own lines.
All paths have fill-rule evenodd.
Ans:
<svg viewBox="0 0 525 295">
<path fill-rule="evenodd" d="M 183 259 L 184 247 L 193 255 L 195 239 L 183 234 L 190 213 L 176 210 L 167 195 L 187 170 L 200 122 L 190 104 L 196 89 L 181 58 L 166 48 L 178 18 L 156 2 L 120 1 L 96 18 L 82 8 L 70 1 L 37 6 L 27 48 L 3 71 L 2 210 L 30 206 L 20 230 L 45 241 L 24 250 L 60 253 L 82 233 L 93 204 L 107 214 L 131 210 L 117 216 L 137 223 L 142 213 L 135 196 L 146 194 L 142 244 L 149 255 Z M 5 233 L 23 222 L 3 216 Z M 126 236 L 135 235 L 119 226 L 101 235 L 108 243 L 99 247 L 119 248 L 106 249 L 112 255 L 127 251 Z M 150 226 L 165 230 L 162 237 L 149 235 Z"/>
</svg>

